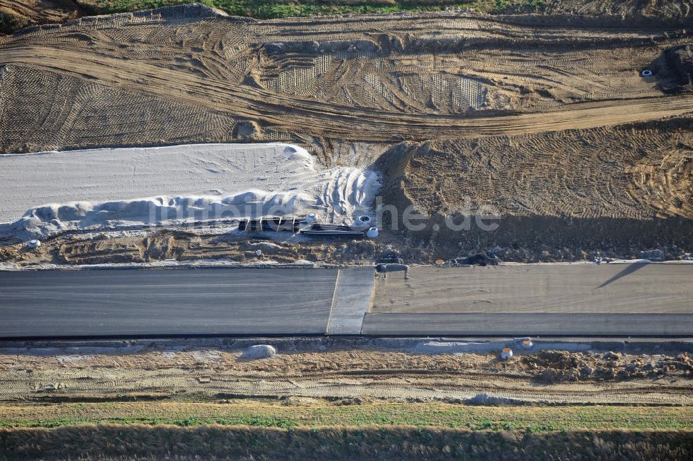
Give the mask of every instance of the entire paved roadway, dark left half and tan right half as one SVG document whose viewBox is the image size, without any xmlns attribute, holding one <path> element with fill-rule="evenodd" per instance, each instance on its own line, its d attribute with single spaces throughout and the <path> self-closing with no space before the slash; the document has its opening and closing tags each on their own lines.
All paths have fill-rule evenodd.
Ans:
<svg viewBox="0 0 693 461">
<path fill-rule="evenodd" d="M 0 338 L 693 334 L 693 264 L 0 271 Z"/>
</svg>

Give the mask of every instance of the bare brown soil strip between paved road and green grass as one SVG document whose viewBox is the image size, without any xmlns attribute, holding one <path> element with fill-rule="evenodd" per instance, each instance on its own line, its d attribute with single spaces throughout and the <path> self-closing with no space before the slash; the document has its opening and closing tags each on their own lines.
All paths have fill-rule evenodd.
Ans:
<svg viewBox="0 0 693 461">
<path fill-rule="evenodd" d="M 238 345 L 191 342 L 2 349 L 0 400 L 693 403 L 693 361 L 688 352 L 542 350 L 500 360 L 490 352 L 420 354 L 416 347 L 367 342 L 305 340 L 292 345 L 284 341 L 277 345 L 277 355 L 258 360 L 243 356 Z"/>
</svg>

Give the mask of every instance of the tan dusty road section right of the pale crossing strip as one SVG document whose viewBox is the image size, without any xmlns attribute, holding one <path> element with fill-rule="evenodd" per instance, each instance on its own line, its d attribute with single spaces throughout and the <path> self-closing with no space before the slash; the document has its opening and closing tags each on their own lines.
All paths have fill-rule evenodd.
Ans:
<svg viewBox="0 0 693 461">
<path fill-rule="evenodd" d="M 378 277 L 364 334 L 691 336 L 693 264 L 509 264 Z"/>
</svg>

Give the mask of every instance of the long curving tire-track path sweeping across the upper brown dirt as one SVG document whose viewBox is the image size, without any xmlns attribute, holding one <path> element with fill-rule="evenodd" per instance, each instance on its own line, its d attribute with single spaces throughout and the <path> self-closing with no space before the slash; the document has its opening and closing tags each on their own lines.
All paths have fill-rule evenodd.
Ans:
<svg viewBox="0 0 693 461">
<path fill-rule="evenodd" d="M 693 96 L 663 96 L 615 101 L 572 103 L 561 110 L 536 114 L 460 117 L 403 114 L 356 107 L 336 106 L 302 98 L 272 94 L 262 89 L 227 87 L 212 78 L 195 78 L 189 73 L 164 70 L 143 62 L 114 59 L 89 60 L 78 52 L 63 52 L 42 58 L 30 49 L 3 53 L 7 64 L 32 64 L 60 73 L 96 78 L 100 82 L 132 87 L 133 91 L 161 95 L 162 89 L 177 99 L 204 105 L 222 114 L 243 116 L 278 125 L 299 125 L 315 136 L 387 141 L 401 139 L 460 139 L 498 135 L 579 130 L 620 125 L 693 112 Z M 110 64 L 110 65 L 105 65 Z M 145 83 L 137 80 L 146 78 Z M 133 82 L 132 80 L 135 80 Z M 214 98 L 204 95 L 215 94 Z M 232 109 L 231 109 L 232 108 Z"/>
</svg>

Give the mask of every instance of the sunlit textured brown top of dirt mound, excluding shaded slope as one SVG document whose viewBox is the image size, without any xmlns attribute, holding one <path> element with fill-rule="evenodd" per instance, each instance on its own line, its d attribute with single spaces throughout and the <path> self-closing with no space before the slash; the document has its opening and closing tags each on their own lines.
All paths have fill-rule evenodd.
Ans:
<svg viewBox="0 0 693 461">
<path fill-rule="evenodd" d="M 430 214 L 472 198 L 503 216 L 693 218 L 692 122 L 419 144 L 403 188 Z"/>
</svg>

